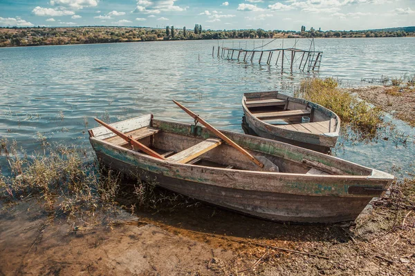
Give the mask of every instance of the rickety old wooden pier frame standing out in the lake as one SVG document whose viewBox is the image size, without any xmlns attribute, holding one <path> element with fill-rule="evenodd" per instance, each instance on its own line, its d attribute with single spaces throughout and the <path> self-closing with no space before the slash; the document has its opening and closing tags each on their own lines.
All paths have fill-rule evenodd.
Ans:
<svg viewBox="0 0 415 276">
<path fill-rule="evenodd" d="M 212 50 L 212 53 L 214 51 Z M 213 54 L 212 54 L 213 55 Z M 315 50 L 301 50 L 297 48 L 278 48 L 270 50 L 244 50 L 218 46 L 217 56 L 228 60 L 256 63 L 260 65 L 290 68 L 306 72 L 320 70 L 323 52 Z"/>
</svg>

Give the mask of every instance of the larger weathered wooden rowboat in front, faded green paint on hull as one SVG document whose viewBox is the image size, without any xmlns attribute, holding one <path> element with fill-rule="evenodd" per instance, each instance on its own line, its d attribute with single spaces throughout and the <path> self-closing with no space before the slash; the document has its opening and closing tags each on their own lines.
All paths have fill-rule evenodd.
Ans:
<svg viewBox="0 0 415 276">
<path fill-rule="evenodd" d="M 248 215 L 275 221 L 331 223 L 356 219 L 394 179 L 379 170 L 279 141 L 223 130 L 223 134 L 279 172 L 256 166 L 207 128 L 154 119 L 111 124 L 165 159 L 133 150 L 103 126 L 89 130 L 100 162 L 158 185 Z"/>
</svg>

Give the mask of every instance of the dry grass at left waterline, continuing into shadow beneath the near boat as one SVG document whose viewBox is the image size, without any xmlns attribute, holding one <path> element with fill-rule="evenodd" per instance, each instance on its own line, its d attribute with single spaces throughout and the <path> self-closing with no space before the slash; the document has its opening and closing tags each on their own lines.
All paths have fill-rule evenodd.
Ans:
<svg viewBox="0 0 415 276">
<path fill-rule="evenodd" d="M 31 157 L 18 152 L 15 141 L 0 141 L 0 155 L 6 156 L 10 172 L 7 177 L 0 175 L 0 200 L 13 203 L 35 197 L 46 210 L 68 218 L 107 210 L 118 202 L 131 213 L 137 208 L 176 208 L 183 204 L 182 195 L 156 190 L 156 179 L 137 175 L 138 180 L 132 182 L 120 172 L 86 159 L 76 148 L 50 146 L 40 134 L 37 141 L 42 153 Z"/>
</svg>

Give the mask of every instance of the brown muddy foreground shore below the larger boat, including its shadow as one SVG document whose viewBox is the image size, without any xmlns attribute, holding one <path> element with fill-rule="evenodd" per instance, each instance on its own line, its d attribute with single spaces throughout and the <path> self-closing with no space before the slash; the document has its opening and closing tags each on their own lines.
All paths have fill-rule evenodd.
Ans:
<svg viewBox="0 0 415 276">
<path fill-rule="evenodd" d="M 356 224 L 292 225 L 184 198 L 135 215 L 116 208 L 68 221 L 32 200 L 1 212 L 0 275 L 415 273 L 414 212 L 392 201 L 375 205 Z"/>
</svg>

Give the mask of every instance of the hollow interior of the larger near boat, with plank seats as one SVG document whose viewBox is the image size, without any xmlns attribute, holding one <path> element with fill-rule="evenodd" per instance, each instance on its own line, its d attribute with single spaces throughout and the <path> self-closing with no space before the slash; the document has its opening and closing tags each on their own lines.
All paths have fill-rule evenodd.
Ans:
<svg viewBox="0 0 415 276">
<path fill-rule="evenodd" d="M 168 126 L 168 124 L 176 125 L 171 127 Z M 173 122 L 167 123 L 166 121 L 152 119 L 151 124 L 148 126 L 134 130 L 131 130 L 130 128 L 125 131 L 124 134 L 136 139 L 140 143 L 151 148 L 151 150 L 156 151 L 158 154 L 163 155 L 167 161 L 177 164 L 192 164 L 194 166 L 227 168 L 231 170 L 267 171 L 269 168 L 266 168 L 266 166 L 264 166 L 264 169 L 260 168 L 232 146 L 225 144 L 221 139 L 214 137 L 214 135 L 209 135 L 208 130 L 201 128 L 201 126 L 195 128 L 193 125 Z M 207 137 L 207 139 L 203 137 Z M 96 138 L 102 139 L 113 145 L 131 149 L 131 145 L 127 143 L 127 141 L 116 135 L 102 135 L 101 137 L 98 136 Z M 136 150 L 135 148 L 132 149 Z M 248 150 L 248 148 L 246 149 Z M 290 148 L 287 150 L 290 150 Z M 136 151 L 140 152 L 140 150 Z M 264 152 L 248 151 L 255 157 L 266 158 L 266 162 L 270 161 L 275 164 L 275 166 L 278 167 L 279 172 L 310 175 L 350 175 L 350 173 L 342 170 L 341 164 L 338 168 L 332 168 L 331 166 L 326 166 L 317 161 L 304 161 L 305 159 L 293 161 L 285 156 L 278 157 L 268 155 Z M 144 152 L 141 153 L 145 155 Z M 352 169 L 353 175 L 371 174 L 371 170 L 368 168 L 355 164 L 351 164 L 351 166 L 354 167 Z"/>
</svg>

